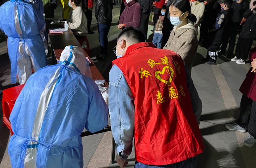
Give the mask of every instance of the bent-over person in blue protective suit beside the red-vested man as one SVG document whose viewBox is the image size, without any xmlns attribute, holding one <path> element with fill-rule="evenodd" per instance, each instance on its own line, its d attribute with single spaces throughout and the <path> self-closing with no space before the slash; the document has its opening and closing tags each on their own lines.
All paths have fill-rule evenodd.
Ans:
<svg viewBox="0 0 256 168">
<path fill-rule="evenodd" d="M 27 80 L 10 115 L 13 168 L 82 168 L 83 129 L 107 126 L 108 107 L 89 74 L 82 49 L 67 46 L 60 63 Z M 86 73 L 84 73 L 86 72 Z"/>
</svg>

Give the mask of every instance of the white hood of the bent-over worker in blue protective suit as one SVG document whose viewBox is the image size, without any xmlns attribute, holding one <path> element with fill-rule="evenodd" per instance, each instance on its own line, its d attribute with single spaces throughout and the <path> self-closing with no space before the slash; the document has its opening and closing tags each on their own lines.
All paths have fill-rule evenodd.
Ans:
<svg viewBox="0 0 256 168">
<path fill-rule="evenodd" d="M 82 48 L 78 46 L 66 46 L 60 56 L 59 64 L 66 64 L 73 67 L 81 74 L 92 78 L 91 70 Z"/>
</svg>

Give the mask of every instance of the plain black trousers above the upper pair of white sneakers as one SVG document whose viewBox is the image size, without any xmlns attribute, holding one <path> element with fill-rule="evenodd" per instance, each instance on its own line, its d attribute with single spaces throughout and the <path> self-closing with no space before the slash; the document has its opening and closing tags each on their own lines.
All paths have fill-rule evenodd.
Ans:
<svg viewBox="0 0 256 168">
<path fill-rule="evenodd" d="M 246 60 L 253 43 L 253 38 L 239 37 L 236 45 L 236 57 Z"/>
</svg>

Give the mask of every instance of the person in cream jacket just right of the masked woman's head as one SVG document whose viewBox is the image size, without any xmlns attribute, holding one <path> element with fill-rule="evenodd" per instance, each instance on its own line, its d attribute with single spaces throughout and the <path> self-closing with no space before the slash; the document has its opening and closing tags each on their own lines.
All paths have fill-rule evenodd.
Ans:
<svg viewBox="0 0 256 168">
<path fill-rule="evenodd" d="M 196 16 L 196 22 L 194 23 L 197 31 L 200 22 L 203 21 L 203 13 L 205 11 L 205 3 L 203 0 L 194 1 L 191 5 L 191 13 Z"/>
</svg>

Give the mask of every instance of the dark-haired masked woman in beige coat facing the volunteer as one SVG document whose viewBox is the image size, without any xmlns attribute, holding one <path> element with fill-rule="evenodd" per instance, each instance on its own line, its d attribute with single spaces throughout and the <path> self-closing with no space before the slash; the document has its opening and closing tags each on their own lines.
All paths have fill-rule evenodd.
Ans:
<svg viewBox="0 0 256 168">
<path fill-rule="evenodd" d="M 191 74 L 192 64 L 198 47 L 197 30 L 190 17 L 190 4 L 188 0 L 171 0 L 170 21 L 174 25 L 169 40 L 164 49 L 172 50 L 182 57 L 189 73 Z"/>
</svg>

